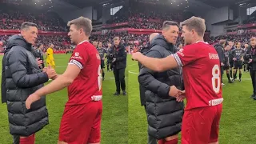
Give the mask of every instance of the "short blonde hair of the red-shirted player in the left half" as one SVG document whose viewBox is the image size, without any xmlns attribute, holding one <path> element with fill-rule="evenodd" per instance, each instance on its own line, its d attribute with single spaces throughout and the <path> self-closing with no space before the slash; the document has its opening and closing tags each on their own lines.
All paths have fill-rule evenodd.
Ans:
<svg viewBox="0 0 256 144">
<path fill-rule="evenodd" d="M 86 36 L 90 36 L 91 31 L 93 30 L 93 26 L 91 20 L 89 18 L 79 17 L 73 19 L 67 23 L 67 26 L 77 26 L 78 29 L 81 29 L 85 32 Z"/>
</svg>

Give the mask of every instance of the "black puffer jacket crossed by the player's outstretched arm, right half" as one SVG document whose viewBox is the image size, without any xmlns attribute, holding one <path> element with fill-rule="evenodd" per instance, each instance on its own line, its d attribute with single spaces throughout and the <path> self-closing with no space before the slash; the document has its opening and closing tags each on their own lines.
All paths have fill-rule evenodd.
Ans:
<svg viewBox="0 0 256 144">
<path fill-rule="evenodd" d="M 146 56 L 166 58 L 174 54 L 174 45 L 166 42 L 162 35 L 151 42 Z M 142 66 L 138 76 L 139 83 L 146 88 L 146 113 L 149 123 L 148 133 L 154 138 L 166 138 L 181 131 L 183 102 L 169 96 L 170 86 L 182 90 L 182 70 L 176 68 L 157 73 Z"/>
</svg>

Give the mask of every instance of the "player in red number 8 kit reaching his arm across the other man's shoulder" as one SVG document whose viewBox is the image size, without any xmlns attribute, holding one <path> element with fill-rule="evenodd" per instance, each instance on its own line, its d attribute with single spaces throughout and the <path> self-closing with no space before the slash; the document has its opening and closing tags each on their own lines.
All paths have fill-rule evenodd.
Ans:
<svg viewBox="0 0 256 144">
<path fill-rule="evenodd" d="M 203 42 L 205 20 L 192 17 L 181 23 L 184 46 L 166 58 L 149 58 L 141 53 L 133 59 L 154 71 L 183 67 L 187 105 L 182 120 L 182 144 L 218 144 L 218 125 L 222 114 L 220 62 L 213 46 Z M 178 101 L 185 91 L 171 90 Z"/>
</svg>

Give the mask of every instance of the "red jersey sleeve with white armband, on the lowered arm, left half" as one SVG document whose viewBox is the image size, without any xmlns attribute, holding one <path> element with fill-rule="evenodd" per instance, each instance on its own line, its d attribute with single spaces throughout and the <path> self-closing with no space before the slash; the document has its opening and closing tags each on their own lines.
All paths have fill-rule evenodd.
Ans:
<svg viewBox="0 0 256 144">
<path fill-rule="evenodd" d="M 74 52 L 70 58 L 69 64 L 76 65 L 80 69 L 82 69 L 86 65 L 87 61 L 88 61 L 88 54 L 87 54 L 86 48 L 83 47 L 82 45 L 78 45 L 78 47 L 74 49 Z"/>
</svg>

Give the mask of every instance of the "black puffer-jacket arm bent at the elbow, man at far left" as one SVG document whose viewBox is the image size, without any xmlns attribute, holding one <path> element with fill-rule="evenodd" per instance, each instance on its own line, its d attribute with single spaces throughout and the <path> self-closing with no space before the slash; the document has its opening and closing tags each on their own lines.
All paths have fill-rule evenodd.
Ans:
<svg viewBox="0 0 256 144">
<path fill-rule="evenodd" d="M 7 58 L 15 85 L 21 88 L 30 88 L 47 82 L 49 79 L 45 72 L 27 74 L 26 54 L 20 49 L 18 47 L 10 51 L 9 58 Z"/>
</svg>

